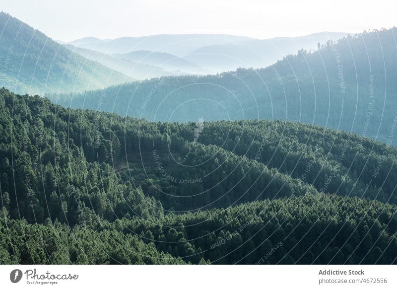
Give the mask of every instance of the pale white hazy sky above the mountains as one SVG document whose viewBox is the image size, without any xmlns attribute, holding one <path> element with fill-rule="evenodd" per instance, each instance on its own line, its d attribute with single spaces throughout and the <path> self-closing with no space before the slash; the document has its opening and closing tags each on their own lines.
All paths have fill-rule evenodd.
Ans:
<svg viewBox="0 0 397 289">
<path fill-rule="evenodd" d="M 53 39 L 225 33 L 255 38 L 397 26 L 396 0 L 0 0 Z"/>
</svg>

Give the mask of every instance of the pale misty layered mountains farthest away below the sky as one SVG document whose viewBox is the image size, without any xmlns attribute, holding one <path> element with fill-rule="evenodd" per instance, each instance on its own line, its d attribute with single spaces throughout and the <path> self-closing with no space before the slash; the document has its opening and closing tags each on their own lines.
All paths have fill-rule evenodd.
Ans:
<svg viewBox="0 0 397 289">
<path fill-rule="evenodd" d="M 147 75 L 210 74 L 238 68 L 262 68 L 275 63 L 285 55 L 296 54 L 299 49 L 317 49 L 318 43 L 338 40 L 347 35 L 347 33 L 321 32 L 302 37 L 278 37 L 265 40 L 211 34 L 122 37 L 114 40 L 86 37 L 69 44 L 116 57 L 119 60 L 124 59 L 160 69 L 160 71 L 153 70 L 150 74 L 142 74 L 139 72 L 139 65 L 135 64 L 133 70 L 137 72 L 131 74 L 117 69 L 117 66 L 110 66 L 132 77 L 145 79 L 149 78 Z M 91 57 L 95 52 L 91 53 Z M 77 53 L 81 54 L 79 51 Z M 87 57 L 85 54 L 81 55 Z M 108 65 L 105 59 L 94 60 Z"/>
</svg>

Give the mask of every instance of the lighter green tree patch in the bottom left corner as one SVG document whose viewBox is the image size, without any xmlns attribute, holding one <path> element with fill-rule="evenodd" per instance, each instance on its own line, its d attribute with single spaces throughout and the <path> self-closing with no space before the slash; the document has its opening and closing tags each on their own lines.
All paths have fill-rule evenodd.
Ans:
<svg viewBox="0 0 397 289">
<path fill-rule="evenodd" d="M 0 264 L 186 264 L 115 228 L 72 229 L 0 217 Z"/>
</svg>

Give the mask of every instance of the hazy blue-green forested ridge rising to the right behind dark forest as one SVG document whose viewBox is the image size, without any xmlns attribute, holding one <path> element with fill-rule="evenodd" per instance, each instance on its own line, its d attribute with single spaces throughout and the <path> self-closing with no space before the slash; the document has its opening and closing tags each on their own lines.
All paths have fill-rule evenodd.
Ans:
<svg viewBox="0 0 397 289">
<path fill-rule="evenodd" d="M 103 110 L 148 120 L 282 119 L 397 144 L 396 32 L 393 28 L 329 41 L 265 69 L 167 76 L 48 97 L 64 106 L 92 109 L 106 94 Z"/>
</svg>

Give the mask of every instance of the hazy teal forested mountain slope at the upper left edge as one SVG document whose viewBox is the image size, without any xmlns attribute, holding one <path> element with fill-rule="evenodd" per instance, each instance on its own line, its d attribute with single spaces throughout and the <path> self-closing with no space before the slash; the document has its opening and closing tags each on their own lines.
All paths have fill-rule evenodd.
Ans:
<svg viewBox="0 0 397 289">
<path fill-rule="evenodd" d="M 0 12 L 0 85 L 19 93 L 71 92 L 132 81 L 72 53 L 38 30 Z"/>
</svg>

